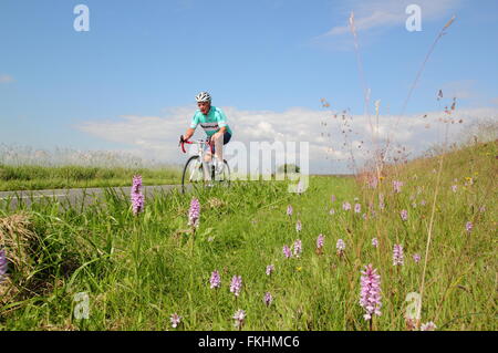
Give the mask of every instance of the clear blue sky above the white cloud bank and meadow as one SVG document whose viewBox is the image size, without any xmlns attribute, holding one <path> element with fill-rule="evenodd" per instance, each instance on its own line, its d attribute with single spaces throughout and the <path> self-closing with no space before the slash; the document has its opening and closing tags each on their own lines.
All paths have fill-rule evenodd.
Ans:
<svg viewBox="0 0 498 353">
<path fill-rule="evenodd" d="M 73 29 L 79 3 L 90 9 L 90 32 Z M 421 32 L 405 29 L 408 3 L 422 7 Z M 440 110 L 439 89 L 457 95 L 459 108 L 497 107 L 494 0 L 1 0 L 0 142 L 137 150 L 129 137 L 110 139 L 81 127 L 105 122 L 112 128 L 122 116 L 135 116 L 178 122 L 163 139 L 173 146 L 169 136 L 187 127 L 194 96 L 204 90 L 215 105 L 237 112 L 320 111 L 325 97 L 335 110 L 362 114 L 352 35 L 340 31 L 352 10 L 364 25 L 359 38 L 372 100 L 382 100 L 384 112 L 401 113 L 425 54 L 453 14 L 457 20 L 406 113 Z M 255 127 L 239 122 L 238 128 L 243 136 Z"/>
</svg>

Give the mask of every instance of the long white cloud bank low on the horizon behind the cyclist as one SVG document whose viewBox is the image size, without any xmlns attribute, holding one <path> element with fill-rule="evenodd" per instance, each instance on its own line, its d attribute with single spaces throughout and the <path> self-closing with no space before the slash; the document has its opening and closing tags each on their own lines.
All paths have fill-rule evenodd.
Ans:
<svg viewBox="0 0 498 353">
<path fill-rule="evenodd" d="M 334 116 L 330 111 L 301 107 L 284 112 L 240 111 L 230 106 L 222 110 L 234 131 L 232 141 L 243 143 L 248 149 L 253 141 L 309 142 L 311 173 L 345 173 L 351 153 L 356 162 L 361 162 L 369 157 L 369 149 L 373 146 L 371 125 L 363 115 L 343 120 L 341 113 Z M 180 153 L 177 142 L 187 129 L 194 111 L 195 106 L 175 107 L 165 116 L 125 115 L 118 121 L 89 121 L 76 128 L 105 141 L 128 144 L 131 148 L 127 152 L 141 157 L 181 164 L 186 156 Z M 382 145 L 390 134 L 393 145 L 403 145 L 415 156 L 443 142 L 444 129 L 438 120 L 444 115 L 440 112 L 402 117 L 381 115 L 375 129 L 378 132 L 377 141 Z M 497 118 L 498 108 L 457 110 L 453 117 L 464 123 L 450 125 L 450 139 L 455 139 L 476 118 Z M 374 121 L 372 117 L 373 124 Z M 194 138 L 201 137 L 204 133 L 199 127 Z"/>
</svg>

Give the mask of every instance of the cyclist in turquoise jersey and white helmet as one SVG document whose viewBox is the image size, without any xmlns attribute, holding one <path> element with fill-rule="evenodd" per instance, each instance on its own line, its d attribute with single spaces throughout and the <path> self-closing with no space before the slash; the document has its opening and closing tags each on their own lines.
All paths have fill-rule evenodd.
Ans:
<svg viewBox="0 0 498 353">
<path fill-rule="evenodd" d="M 199 107 L 191 118 L 190 127 L 185 135 L 180 136 L 180 141 L 187 141 L 194 135 L 197 125 L 204 128 L 209 144 L 215 147 L 215 170 L 221 173 L 224 170 L 224 145 L 228 144 L 231 138 L 231 129 L 227 124 L 227 116 L 225 113 L 214 105 L 211 105 L 211 96 L 207 92 L 200 92 L 196 96 L 197 106 Z M 211 152 L 205 154 L 205 162 L 211 160 Z"/>
</svg>

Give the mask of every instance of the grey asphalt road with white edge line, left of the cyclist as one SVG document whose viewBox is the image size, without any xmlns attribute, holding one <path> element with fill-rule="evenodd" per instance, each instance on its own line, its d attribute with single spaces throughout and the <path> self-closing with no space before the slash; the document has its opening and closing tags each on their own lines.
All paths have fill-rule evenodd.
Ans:
<svg viewBox="0 0 498 353">
<path fill-rule="evenodd" d="M 168 193 L 173 189 L 181 189 L 181 185 L 156 185 L 144 186 L 142 191 L 145 199 L 154 197 L 155 194 Z M 20 206 L 31 206 L 33 203 L 53 203 L 58 200 L 63 208 L 70 206 L 89 206 L 104 199 L 104 190 L 112 189 L 117 196 L 129 199 L 131 187 L 112 188 L 76 188 L 76 189 L 49 189 L 49 190 L 22 190 L 22 191 L 0 191 L 0 209 L 9 205 L 10 209 Z"/>
</svg>

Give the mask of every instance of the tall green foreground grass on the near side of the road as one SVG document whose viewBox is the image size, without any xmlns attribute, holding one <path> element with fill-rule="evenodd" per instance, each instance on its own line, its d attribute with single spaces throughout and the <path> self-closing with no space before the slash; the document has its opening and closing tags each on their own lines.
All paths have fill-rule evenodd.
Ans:
<svg viewBox="0 0 498 353">
<path fill-rule="evenodd" d="M 434 321 L 439 330 L 497 329 L 496 155 L 490 143 L 443 160 L 422 305 L 422 322 Z M 372 263 L 381 274 L 383 302 L 373 329 L 405 330 L 406 295 L 421 288 L 438 160 L 388 168 L 377 189 L 360 177 L 318 176 L 302 195 L 289 194 L 288 181 L 208 189 L 195 195 L 201 204 L 195 235 L 187 226 L 194 195 L 173 191 L 146 200 L 138 217 L 112 191 L 105 207 L 83 212 L 35 204 L 24 210 L 37 235 L 29 246 L 31 268 L 10 266 L 0 329 L 174 330 L 169 316 L 176 312 L 183 316 L 177 330 L 235 330 L 231 316 L 243 309 L 243 330 L 369 330 L 359 305 L 360 271 Z M 466 177 L 473 185 L 464 186 Z M 404 181 L 400 194 L 393 193 L 394 179 Z M 452 185 L 458 185 L 456 193 Z M 342 210 L 343 201 L 354 207 L 355 197 L 362 212 Z M 375 216 L 365 220 L 369 201 Z M 402 209 L 408 210 L 407 221 Z M 3 218 L 10 214 L 3 210 Z M 467 221 L 474 224 L 470 233 Z M 323 255 L 314 251 L 319 233 L 325 236 Z M 302 256 L 284 259 L 283 245 L 298 238 Z M 335 250 L 340 238 L 344 257 Z M 394 243 L 404 247 L 403 267 L 392 263 Z M 414 253 L 422 256 L 419 263 Z M 276 271 L 268 277 L 270 263 Z M 221 276 L 218 290 L 209 288 L 214 270 Z M 235 274 L 243 281 L 237 299 L 229 291 Z M 273 295 L 269 308 L 262 301 L 267 291 Z M 89 294 L 89 320 L 73 318 L 79 292 Z"/>
</svg>

